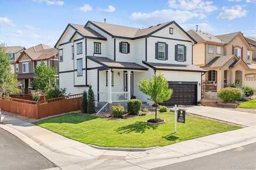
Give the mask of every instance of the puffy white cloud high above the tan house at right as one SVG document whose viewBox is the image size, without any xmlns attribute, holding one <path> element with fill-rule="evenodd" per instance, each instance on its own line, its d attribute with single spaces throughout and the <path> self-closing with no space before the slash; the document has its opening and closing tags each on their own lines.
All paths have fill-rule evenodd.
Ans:
<svg viewBox="0 0 256 170">
<path fill-rule="evenodd" d="M 230 8 L 222 7 L 222 12 L 218 15 L 218 19 L 234 20 L 247 15 L 247 11 L 240 5 L 235 5 Z"/>
</svg>

